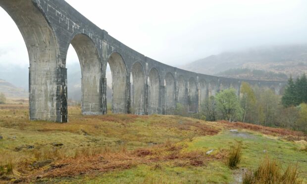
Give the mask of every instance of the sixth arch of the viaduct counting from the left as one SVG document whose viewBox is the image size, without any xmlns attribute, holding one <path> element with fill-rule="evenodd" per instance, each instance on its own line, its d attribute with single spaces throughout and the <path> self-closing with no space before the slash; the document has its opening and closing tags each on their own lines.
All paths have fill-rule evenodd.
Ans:
<svg viewBox="0 0 307 184">
<path fill-rule="evenodd" d="M 174 114 L 175 110 L 175 79 L 168 72 L 165 75 L 165 114 Z"/>
</svg>

